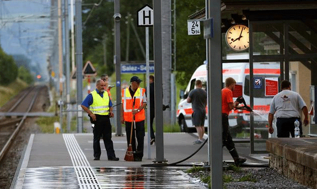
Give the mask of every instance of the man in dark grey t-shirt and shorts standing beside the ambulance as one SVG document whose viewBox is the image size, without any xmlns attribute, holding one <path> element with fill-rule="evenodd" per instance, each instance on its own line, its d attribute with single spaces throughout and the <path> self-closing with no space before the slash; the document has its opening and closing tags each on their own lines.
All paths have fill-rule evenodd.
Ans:
<svg viewBox="0 0 317 189">
<path fill-rule="evenodd" d="M 195 89 L 189 92 L 187 102 L 192 103 L 192 122 L 198 133 L 198 140 L 194 144 L 201 144 L 205 133 L 207 92 L 202 89 L 202 82 L 200 80 L 196 80 L 195 87 Z"/>
</svg>

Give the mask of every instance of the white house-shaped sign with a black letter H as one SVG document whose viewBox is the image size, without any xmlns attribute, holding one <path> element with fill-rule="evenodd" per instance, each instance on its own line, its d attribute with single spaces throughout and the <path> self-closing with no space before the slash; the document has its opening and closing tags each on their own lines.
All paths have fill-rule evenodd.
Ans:
<svg viewBox="0 0 317 189">
<path fill-rule="evenodd" d="M 153 26 L 154 15 L 153 9 L 145 5 L 137 11 L 137 26 Z"/>
</svg>

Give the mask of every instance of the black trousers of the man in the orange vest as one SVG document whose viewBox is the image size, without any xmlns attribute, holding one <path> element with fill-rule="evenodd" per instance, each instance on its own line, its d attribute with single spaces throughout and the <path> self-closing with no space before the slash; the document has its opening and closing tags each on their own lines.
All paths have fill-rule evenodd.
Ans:
<svg viewBox="0 0 317 189">
<path fill-rule="evenodd" d="M 125 121 L 125 132 L 127 135 L 128 146 L 130 143 L 131 124 L 132 122 Z M 135 136 L 136 136 L 136 140 L 135 140 Z M 142 159 L 143 157 L 144 136 L 145 136 L 144 120 L 135 122 L 135 125 L 133 124 L 131 145 L 132 145 L 132 151 L 134 152 L 135 158 L 137 159 Z"/>
</svg>

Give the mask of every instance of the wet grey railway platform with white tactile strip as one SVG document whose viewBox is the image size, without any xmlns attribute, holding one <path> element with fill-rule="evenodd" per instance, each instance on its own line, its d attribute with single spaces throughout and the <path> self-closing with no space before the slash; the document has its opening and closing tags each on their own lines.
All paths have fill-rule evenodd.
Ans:
<svg viewBox="0 0 317 189">
<path fill-rule="evenodd" d="M 164 134 L 164 157 L 167 163 L 186 158 L 199 148 L 193 145 L 197 137 L 188 133 Z M 147 153 L 145 135 L 144 156 L 141 162 L 127 162 L 126 136 L 112 137 L 119 161 L 108 161 L 103 141 L 99 161 L 93 157 L 92 134 L 32 134 L 28 146 L 21 157 L 11 188 L 206 188 L 191 178 L 185 170 L 194 164 L 208 161 L 207 144 L 193 157 L 179 166 L 144 167 L 153 164 L 155 146 Z M 245 146 L 237 147 L 247 162 L 267 163 L 249 156 Z M 263 156 L 267 156 L 264 154 Z M 223 150 L 223 160 L 231 161 L 227 150 Z"/>
</svg>

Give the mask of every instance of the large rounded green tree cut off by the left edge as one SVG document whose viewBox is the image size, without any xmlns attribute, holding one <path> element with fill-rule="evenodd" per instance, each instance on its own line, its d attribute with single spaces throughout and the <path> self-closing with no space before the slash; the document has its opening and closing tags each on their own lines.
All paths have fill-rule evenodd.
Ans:
<svg viewBox="0 0 317 189">
<path fill-rule="evenodd" d="M 0 48 L 0 84 L 9 85 L 17 79 L 18 67 L 12 56 L 6 54 Z"/>
</svg>

